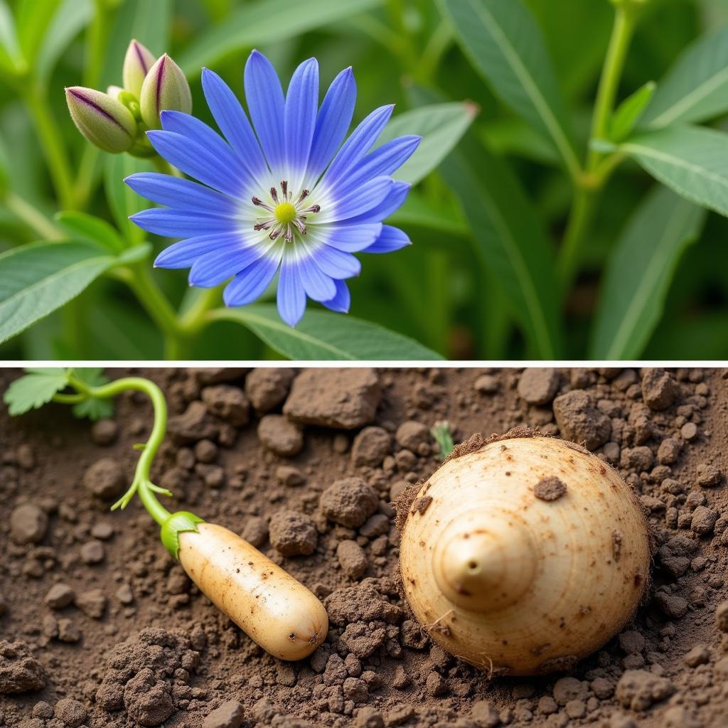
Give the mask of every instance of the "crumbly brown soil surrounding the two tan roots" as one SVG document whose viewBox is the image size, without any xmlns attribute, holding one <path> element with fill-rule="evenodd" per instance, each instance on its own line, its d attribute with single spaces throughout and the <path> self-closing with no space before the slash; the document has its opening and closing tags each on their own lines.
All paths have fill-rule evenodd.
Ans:
<svg viewBox="0 0 728 728">
<path fill-rule="evenodd" d="M 144 397 L 96 424 L 63 405 L 3 408 L 0 725 L 728 726 L 728 371 L 143 373 L 170 403 L 165 505 L 282 564 L 323 599 L 328 638 L 301 662 L 269 657 L 191 585 L 138 502 L 108 510 L 149 435 Z M 18 374 L 1 371 L 1 389 Z M 652 587 L 600 652 L 489 677 L 411 619 L 392 502 L 440 464 L 441 420 L 456 442 L 533 427 L 586 443 L 636 488 Z"/>
</svg>

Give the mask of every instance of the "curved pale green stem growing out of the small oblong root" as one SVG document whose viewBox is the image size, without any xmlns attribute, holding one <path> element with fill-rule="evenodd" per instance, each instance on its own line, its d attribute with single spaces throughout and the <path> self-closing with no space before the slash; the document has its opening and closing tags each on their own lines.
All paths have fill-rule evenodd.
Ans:
<svg viewBox="0 0 728 728">
<path fill-rule="evenodd" d="M 132 486 L 122 499 L 112 506 L 112 510 L 116 508 L 123 509 L 132 496 L 138 492 L 142 505 L 149 512 L 149 515 L 154 518 L 154 521 L 157 521 L 161 526 L 171 514 L 154 494 L 155 490 L 165 491 L 157 488 L 151 482 L 150 471 L 151 464 L 154 462 L 154 456 L 157 454 L 159 446 L 162 444 L 162 440 L 164 440 L 165 433 L 167 432 L 167 402 L 165 401 L 165 395 L 162 394 L 162 389 L 159 389 L 153 381 L 143 379 L 143 377 L 139 376 L 128 376 L 122 379 L 116 379 L 116 381 L 112 381 L 109 384 L 103 384 L 100 387 L 89 387 L 71 375 L 68 377 L 68 384 L 74 387 L 80 394 L 85 395 L 85 397 L 94 397 L 95 399 L 108 399 L 109 397 L 115 397 L 122 392 L 126 392 L 128 389 L 133 389 L 137 392 L 144 392 L 151 400 L 152 408 L 154 408 L 154 424 L 152 425 L 149 439 L 144 445 L 141 456 L 139 456 Z M 56 396 L 58 397 L 59 395 Z"/>
</svg>

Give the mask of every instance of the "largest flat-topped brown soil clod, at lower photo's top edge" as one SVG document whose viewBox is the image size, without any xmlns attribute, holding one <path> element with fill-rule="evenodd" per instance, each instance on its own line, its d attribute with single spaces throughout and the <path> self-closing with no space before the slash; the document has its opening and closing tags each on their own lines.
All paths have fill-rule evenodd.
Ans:
<svg viewBox="0 0 728 728">
<path fill-rule="evenodd" d="M 310 368 L 293 380 L 283 412 L 301 424 L 355 430 L 373 421 L 380 400 L 379 377 L 371 368 Z"/>
</svg>

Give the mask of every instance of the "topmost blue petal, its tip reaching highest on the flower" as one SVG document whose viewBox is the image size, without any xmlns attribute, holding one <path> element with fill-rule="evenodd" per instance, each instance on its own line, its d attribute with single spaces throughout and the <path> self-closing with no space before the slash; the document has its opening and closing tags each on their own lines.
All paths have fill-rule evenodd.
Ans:
<svg viewBox="0 0 728 728">
<path fill-rule="evenodd" d="M 269 167 L 274 171 L 282 170 L 285 162 L 285 98 L 275 68 L 257 50 L 250 54 L 245 64 L 245 99 Z"/>
</svg>

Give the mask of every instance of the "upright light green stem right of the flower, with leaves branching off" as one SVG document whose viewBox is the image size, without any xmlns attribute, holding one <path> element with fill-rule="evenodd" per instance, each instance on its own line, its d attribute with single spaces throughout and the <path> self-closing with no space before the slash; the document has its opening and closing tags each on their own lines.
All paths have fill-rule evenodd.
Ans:
<svg viewBox="0 0 728 728">
<path fill-rule="evenodd" d="M 579 270 L 583 248 L 596 210 L 599 193 L 609 175 L 622 160 L 622 155 L 605 155 L 591 148 L 591 141 L 604 139 L 609 132 L 609 120 L 624 70 L 627 52 L 636 26 L 637 13 L 633 7 L 618 6 L 614 15 L 612 36 L 609 39 L 604 66 L 599 80 L 590 134 L 590 146 L 584 173 L 577 178 L 574 200 L 566 223 L 558 255 L 558 277 L 563 294 L 568 293 Z"/>
</svg>

